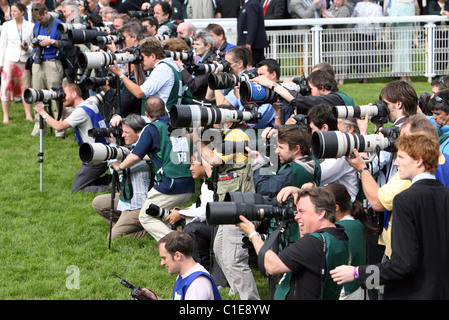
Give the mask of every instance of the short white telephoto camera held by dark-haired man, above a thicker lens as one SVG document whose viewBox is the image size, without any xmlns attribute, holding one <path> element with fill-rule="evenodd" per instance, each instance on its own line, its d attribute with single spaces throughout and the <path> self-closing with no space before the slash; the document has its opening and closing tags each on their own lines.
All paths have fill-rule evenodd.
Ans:
<svg viewBox="0 0 449 320">
<path fill-rule="evenodd" d="M 334 106 L 332 113 L 336 118 L 361 118 L 368 114 L 372 123 L 384 124 L 388 122 L 388 107 L 385 101 L 378 100 L 373 105 L 362 106 Z"/>
</svg>

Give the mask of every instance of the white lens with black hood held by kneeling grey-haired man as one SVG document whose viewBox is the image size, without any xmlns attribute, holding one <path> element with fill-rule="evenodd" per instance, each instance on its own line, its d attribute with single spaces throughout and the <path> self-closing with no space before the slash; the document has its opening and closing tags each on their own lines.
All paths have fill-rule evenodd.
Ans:
<svg viewBox="0 0 449 320">
<path fill-rule="evenodd" d="M 130 152 L 131 149 L 126 146 L 113 147 L 98 142 L 84 142 L 79 149 L 79 156 L 82 162 L 100 163 L 112 159 L 122 161 Z"/>
</svg>

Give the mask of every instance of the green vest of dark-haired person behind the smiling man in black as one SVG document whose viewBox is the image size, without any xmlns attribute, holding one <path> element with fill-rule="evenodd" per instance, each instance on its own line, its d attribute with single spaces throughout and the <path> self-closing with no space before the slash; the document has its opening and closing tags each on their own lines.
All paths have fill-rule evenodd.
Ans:
<svg viewBox="0 0 449 320">
<path fill-rule="evenodd" d="M 340 220 L 336 224 L 345 227 L 345 233 L 349 238 L 349 251 L 351 253 L 350 265 L 362 266 L 366 264 L 366 231 L 360 220 Z M 354 280 L 343 285 L 345 294 L 353 293 L 360 288 L 360 282 Z"/>
</svg>

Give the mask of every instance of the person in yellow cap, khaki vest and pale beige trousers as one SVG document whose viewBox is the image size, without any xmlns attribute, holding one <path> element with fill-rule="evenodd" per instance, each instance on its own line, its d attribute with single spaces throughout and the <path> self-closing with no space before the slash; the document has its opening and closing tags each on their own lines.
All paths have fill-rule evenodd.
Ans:
<svg viewBox="0 0 449 320">
<path fill-rule="evenodd" d="M 233 110 L 231 106 L 218 106 L 217 108 Z M 220 142 L 243 142 L 249 140 L 248 135 L 241 129 L 236 128 L 236 123 L 227 123 L 223 126 L 228 130 L 223 131 Z M 214 149 L 212 144 L 205 145 L 193 131 L 194 146 L 201 150 L 203 165 L 207 168 L 212 166 L 212 181 L 216 201 L 223 201 L 227 192 L 255 192 L 253 182 L 253 171 L 248 163 L 244 150 L 235 153 L 221 153 Z M 207 131 L 206 131 L 207 133 Z M 204 135 L 203 135 L 204 136 Z M 219 140 L 219 139 L 217 139 Z M 214 139 L 214 143 L 217 142 Z M 213 250 L 216 260 L 228 281 L 231 294 L 239 293 L 242 300 L 259 300 L 254 276 L 248 264 L 248 248 L 243 247 L 243 234 L 235 225 L 219 225 L 214 239 Z"/>
</svg>

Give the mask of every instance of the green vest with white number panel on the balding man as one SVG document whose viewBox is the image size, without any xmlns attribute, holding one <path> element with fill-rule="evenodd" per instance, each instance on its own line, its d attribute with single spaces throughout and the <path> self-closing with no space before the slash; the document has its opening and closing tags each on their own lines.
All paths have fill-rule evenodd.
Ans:
<svg viewBox="0 0 449 320">
<path fill-rule="evenodd" d="M 162 160 L 162 167 L 160 168 L 155 161 L 152 161 L 156 181 L 161 181 L 162 174 L 169 179 L 191 177 L 189 140 L 186 137 L 182 137 L 180 139 L 183 140 L 173 146 L 167 124 L 156 120 L 150 122 L 149 125 L 156 127 L 161 146 L 161 150 L 158 153 L 149 155 L 151 159 L 157 156 Z"/>
</svg>

